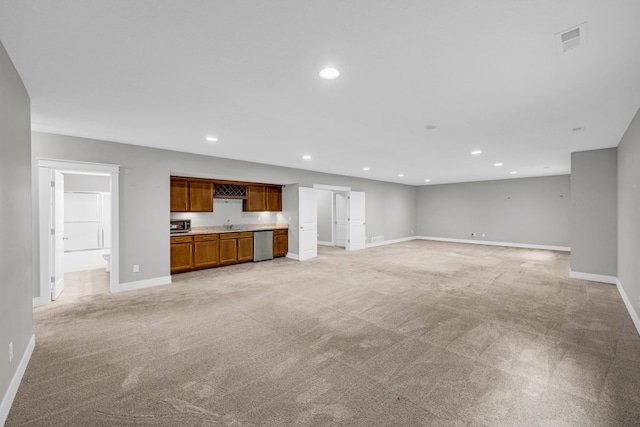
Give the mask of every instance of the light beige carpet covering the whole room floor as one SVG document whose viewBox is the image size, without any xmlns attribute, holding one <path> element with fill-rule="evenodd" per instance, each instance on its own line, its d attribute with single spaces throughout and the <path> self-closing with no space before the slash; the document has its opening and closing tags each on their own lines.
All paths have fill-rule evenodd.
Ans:
<svg viewBox="0 0 640 427">
<path fill-rule="evenodd" d="M 319 250 L 36 309 L 7 425 L 640 425 L 640 338 L 567 253 Z"/>
</svg>

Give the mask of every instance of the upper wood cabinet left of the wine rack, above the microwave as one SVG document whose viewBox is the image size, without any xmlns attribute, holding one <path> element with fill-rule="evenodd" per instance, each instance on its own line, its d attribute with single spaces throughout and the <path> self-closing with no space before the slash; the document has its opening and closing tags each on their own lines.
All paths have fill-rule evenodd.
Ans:
<svg viewBox="0 0 640 427">
<path fill-rule="evenodd" d="M 171 177 L 171 212 L 213 212 L 214 183 Z"/>
</svg>

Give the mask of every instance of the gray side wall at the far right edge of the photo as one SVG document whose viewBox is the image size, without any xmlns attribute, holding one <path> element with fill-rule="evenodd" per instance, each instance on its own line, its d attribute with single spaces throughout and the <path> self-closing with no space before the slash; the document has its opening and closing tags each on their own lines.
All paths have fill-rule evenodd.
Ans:
<svg viewBox="0 0 640 427">
<path fill-rule="evenodd" d="M 618 280 L 640 314 L 640 110 L 618 145 Z"/>
</svg>

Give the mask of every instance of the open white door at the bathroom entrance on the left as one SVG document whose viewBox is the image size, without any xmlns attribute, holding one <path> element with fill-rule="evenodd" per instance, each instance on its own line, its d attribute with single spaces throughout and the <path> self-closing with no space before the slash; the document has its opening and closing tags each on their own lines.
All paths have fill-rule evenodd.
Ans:
<svg viewBox="0 0 640 427">
<path fill-rule="evenodd" d="M 51 209 L 51 300 L 55 301 L 64 289 L 64 175 L 54 172 L 53 209 Z"/>
</svg>

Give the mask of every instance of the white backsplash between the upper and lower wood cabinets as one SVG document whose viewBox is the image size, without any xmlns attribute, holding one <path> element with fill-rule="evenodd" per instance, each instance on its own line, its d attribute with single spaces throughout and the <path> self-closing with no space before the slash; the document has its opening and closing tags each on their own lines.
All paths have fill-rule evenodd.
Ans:
<svg viewBox="0 0 640 427">
<path fill-rule="evenodd" d="M 191 219 L 192 227 L 231 224 L 288 224 L 282 212 L 242 212 L 242 200 L 213 199 L 213 212 L 171 212 L 171 219 Z"/>
</svg>

